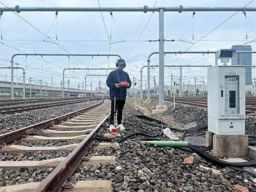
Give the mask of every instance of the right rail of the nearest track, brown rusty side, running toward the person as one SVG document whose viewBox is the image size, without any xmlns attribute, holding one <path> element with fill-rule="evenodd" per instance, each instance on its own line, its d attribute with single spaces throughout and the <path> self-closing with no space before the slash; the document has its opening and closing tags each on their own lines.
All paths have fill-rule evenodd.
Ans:
<svg viewBox="0 0 256 192">
<path fill-rule="evenodd" d="M 99 132 L 100 127 L 108 119 L 110 113 L 100 122 L 95 129 L 79 143 L 79 145 L 62 161 L 51 173 L 44 179 L 34 190 L 34 192 L 42 191 L 61 191 L 61 186 L 77 169 L 82 162 L 82 158 L 88 148 L 94 141 L 94 134 Z"/>
</svg>

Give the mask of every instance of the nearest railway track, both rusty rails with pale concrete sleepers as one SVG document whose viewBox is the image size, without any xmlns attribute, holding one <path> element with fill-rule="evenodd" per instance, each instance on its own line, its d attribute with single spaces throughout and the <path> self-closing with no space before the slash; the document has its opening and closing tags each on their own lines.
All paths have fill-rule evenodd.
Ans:
<svg viewBox="0 0 256 192">
<path fill-rule="evenodd" d="M 22 191 L 23 189 L 28 191 L 34 189 L 35 191 L 61 191 L 63 184 L 75 172 L 79 164 L 115 163 L 115 157 L 108 156 L 93 157 L 90 161 L 82 162 L 84 154 L 94 141 L 93 136 L 100 131 L 108 119 L 109 109 L 109 102 L 102 101 L 88 108 L 0 135 L 1 143 L 15 143 L 15 145 L 6 145 L 1 148 L 1 170 L 13 173 L 16 173 L 17 170 L 21 172 L 18 180 L 15 178 L 13 182 L 10 181 L 11 184 L 15 184 L 16 180 L 20 181 L 20 178 L 23 178 L 22 174 L 24 175 L 29 170 L 35 171 L 33 172 L 34 175 L 29 175 L 31 178 L 35 177 L 37 173 L 47 175 L 46 178 L 37 179 L 36 182 L 32 182 L 34 180 L 31 178 L 21 180 L 22 184 L 2 187 L 0 191 Z M 39 131 L 40 134 L 47 135 L 31 134 L 35 130 L 38 132 L 38 129 L 43 130 L 43 132 Z M 52 147 L 48 146 L 49 143 L 52 143 Z M 33 147 L 28 147 L 31 145 Z M 109 146 L 115 147 L 116 144 L 102 143 L 99 147 Z M 13 157 L 12 159 L 4 159 L 4 154 L 13 154 Z M 38 159 L 38 156 L 44 156 L 44 158 L 40 161 L 34 161 L 33 159 Z M 56 158 L 48 159 L 47 157 Z M 27 161 L 27 159 L 33 161 Z M 88 184 L 88 182 L 85 183 Z M 100 186 L 100 183 L 102 182 L 97 182 L 97 185 Z M 111 182 L 105 181 L 103 184 L 107 184 L 107 188 L 111 188 Z M 95 182 L 90 186 L 95 187 Z"/>
</svg>

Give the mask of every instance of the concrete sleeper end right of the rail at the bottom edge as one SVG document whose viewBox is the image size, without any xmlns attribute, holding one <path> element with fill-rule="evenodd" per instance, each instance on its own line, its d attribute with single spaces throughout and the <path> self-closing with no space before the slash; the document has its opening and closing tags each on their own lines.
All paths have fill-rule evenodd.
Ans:
<svg viewBox="0 0 256 192">
<path fill-rule="evenodd" d="M 65 190 L 65 192 L 109 192 L 112 190 L 112 182 L 109 180 L 79 180 L 74 189 Z"/>
</svg>

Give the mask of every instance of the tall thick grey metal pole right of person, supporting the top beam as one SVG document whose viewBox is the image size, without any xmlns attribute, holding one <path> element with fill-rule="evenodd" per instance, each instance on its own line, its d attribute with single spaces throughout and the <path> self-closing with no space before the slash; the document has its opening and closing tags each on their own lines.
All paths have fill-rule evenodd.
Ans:
<svg viewBox="0 0 256 192">
<path fill-rule="evenodd" d="M 164 10 L 159 10 L 159 106 L 164 106 Z"/>
</svg>

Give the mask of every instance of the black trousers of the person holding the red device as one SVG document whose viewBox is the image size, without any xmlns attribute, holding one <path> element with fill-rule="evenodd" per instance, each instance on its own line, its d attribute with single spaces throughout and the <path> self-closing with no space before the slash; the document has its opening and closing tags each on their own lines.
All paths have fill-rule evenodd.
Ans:
<svg viewBox="0 0 256 192">
<path fill-rule="evenodd" d="M 111 113 L 109 124 L 114 124 L 114 113 L 115 113 L 115 100 L 111 100 Z M 122 116 L 124 109 L 125 100 L 116 100 L 116 109 L 117 109 L 117 124 L 122 124 Z"/>
</svg>

